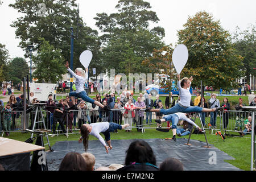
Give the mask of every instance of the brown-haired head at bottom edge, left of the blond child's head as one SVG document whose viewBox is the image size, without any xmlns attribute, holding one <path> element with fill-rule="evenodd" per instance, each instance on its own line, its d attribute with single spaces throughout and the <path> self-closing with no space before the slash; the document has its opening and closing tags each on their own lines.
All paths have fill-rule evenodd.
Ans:
<svg viewBox="0 0 256 182">
<path fill-rule="evenodd" d="M 59 171 L 87 171 L 85 160 L 81 154 L 69 152 L 61 161 Z"/>
</svg>

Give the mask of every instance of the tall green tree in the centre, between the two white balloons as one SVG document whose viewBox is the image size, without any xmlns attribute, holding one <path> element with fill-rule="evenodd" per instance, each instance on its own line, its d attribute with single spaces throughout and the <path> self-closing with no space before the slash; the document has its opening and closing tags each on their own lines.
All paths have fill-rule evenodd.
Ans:
<svg viewBox="0 0 256 182">
<path fill-rule="evenodd" d="M 154 11 L 148 10 L 151 8 L 148 2 L 121 0 L 115 7 L 118 13 L 101 13 L 94 18 L 104 33 L 100 39 L 105 68 L 114 68 L 116 72 L 125 74 L 147 73 L 148 70 L 141 63 L 151 55 L 154 48 L 164 46 L 164 28 L 148 28 L 150 22 L 158 23 L 159 20 Z M 133 67 L 127 68 L 129 64 Z"/>
</svg>

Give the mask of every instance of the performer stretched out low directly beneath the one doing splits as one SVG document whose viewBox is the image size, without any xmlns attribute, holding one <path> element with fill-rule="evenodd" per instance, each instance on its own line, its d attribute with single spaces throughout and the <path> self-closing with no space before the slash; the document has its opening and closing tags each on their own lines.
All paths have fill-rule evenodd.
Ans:
<svg viewBox="0 0 256 182">
<path fill-rule="evenodd" d="M 199 126 L 196 125 L 195 122 L 191 121 L 191 119 L 188 118 L 188 114 L 184 113 L 175 113 L 175 114 L 169 114 L 165 115 L 162 119 L 156 119 L 155 122 L 161 124 L 162 122 L 171 121 L 172 122 L 172 139 L 176 142 L 176 129 L 177 129 L 177 123 L 180 120 L 187 121 L 188 123 L 191 123 L 192 125 L 196 126 L 199 131 L 202 131 Z"/>
</svg>

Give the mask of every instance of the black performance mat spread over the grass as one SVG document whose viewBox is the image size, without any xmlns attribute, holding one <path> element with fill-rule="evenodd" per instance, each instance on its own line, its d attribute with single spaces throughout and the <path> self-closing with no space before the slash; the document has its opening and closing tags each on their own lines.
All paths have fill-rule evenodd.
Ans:
<svg viewBox="0 0 256 182">
<path fill-rule="evenodd" d="M 130 140 L 111 140 L 113 149 L 106 154 L 105 147 L 99 140 L 90 140 L 88 152 L 96 158 L 95 168 L 100 166 L 109 166 L 110 164 L 124 164 L 126 150 L 130 143 L 137 139 Z M 143 139 L 152 147 L 156 156 L 156 166 L 166 158 L 175 158 L 180 160 L 186 171 L 234 171 L 240 170 L 224 160 L 234 160 L 231 156 L 218 150 L 218 148 L 209 145 L 205 148 L 205 142 L 199 140 L 190 140 L 191 146 L 187 146 L 185 138 L 177 138 L 177 141 L 164 139 Z M 53 151 L 47 152 L 46 158 L 49 171 L 59 170 L 61 160 L 68 152 L 84 152 L 82 143 L 78 141 L 56 142 L 52 146 Z M 216 156 L 216 158 L 214 158 Z"/>
</svg>

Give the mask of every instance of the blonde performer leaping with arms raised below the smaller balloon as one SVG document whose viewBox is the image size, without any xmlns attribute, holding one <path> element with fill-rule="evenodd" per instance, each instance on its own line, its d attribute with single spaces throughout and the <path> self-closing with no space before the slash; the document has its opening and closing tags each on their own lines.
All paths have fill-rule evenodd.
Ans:
<svg viewBox="0 0 256 182">
<path fill-rule="evenodd" d="M 76 92 L 70 92 L 69 96 L 72 100 L 72 107 L 70 109 L 76 109 L 75 106 L 75 97 L 82 98 L 82 100 L 86 102 L 90 102 L 91 104 L 95 104 L 97 106 L 100 106 L 104 108 L 104 105 L 102 105 L 100 102 L 93 100 L 89 96 L 86 95 L 86 92 L 84 90 L 84 84 L 85 81 L 88 79 L 88 68 L 86 68 L 86 72 L 82 68 L 76 68 L 75 73 L 69 68 L 68 61 L 65 64 L 65 67 L 68 69 L 68 72 L 73 75 L 73 77 L 76 78 L 75 85 L 76 85 Z M 107 110 L 105 107 L 104 109 Z"/>
</svg>

